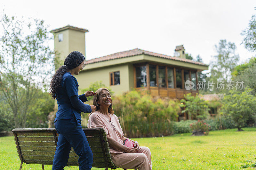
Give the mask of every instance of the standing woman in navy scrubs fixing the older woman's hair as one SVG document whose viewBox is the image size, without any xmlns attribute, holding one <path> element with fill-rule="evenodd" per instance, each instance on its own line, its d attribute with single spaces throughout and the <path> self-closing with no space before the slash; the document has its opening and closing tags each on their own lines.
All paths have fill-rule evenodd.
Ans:
<svg viewBox="0 0 256 170">
<path fill-rule="evenodd" d="M 52 77 L 50 95 L 57 100 L 58 111 L 54 126 L 59 134 L 52 170 L 63 169 L 67 166 L 68 156 L 73 147 L 79 156 L 79 170 L 91 170 L 92 150 L 81 126 L 81 111 L 93 113 L 94 105 L 84 104 L 88 96 L 93 96 L 93 91 L 86 91 L 78 96 L 78 83 L 74 74 L 78 75 L 83 70 L 85 57 L 78 51 L 68 54 L 61 66 Z"/>
</svg>

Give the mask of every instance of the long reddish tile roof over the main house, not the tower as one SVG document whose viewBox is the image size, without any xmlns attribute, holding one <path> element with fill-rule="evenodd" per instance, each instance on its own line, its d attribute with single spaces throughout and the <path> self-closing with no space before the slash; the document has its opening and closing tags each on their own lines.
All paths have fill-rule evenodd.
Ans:
<svg viewBox="0 0 256 170">
<path fill-rule="evenodd" d="M 124 57 L 132 57 L 132 56 L 141 55 L 141 54 L 146 54 L 146 55 L 155 56 L 155 57 L 159 57 L 159 58 L 170 59 L 170 60 L 183 61 L 183 62 L 198 64 L 198 65 L 203 65 L 203 66 L 209 66 L 209 65 L 201 63 L 201 62 L 197 62 L 197 61 L 193 61 L 193 60 L 189 60 L 189 59 L 183 59 L 183 58 L 179 58 L 179 57 L 172 57 L 172 56 L 159 54 L 159 53 L 153 53 L 153 52 L 150 52 L 150 51 L 141 50 L 139 48 L 114 53 L 114 54 L 106 55 L 106 56 L 103 56 L 103 57 L 98 57 L 98 58 L 95 58 L 95 59 L 87 60 L 85 62 L 86 62 L 86 64 L 92 64 L 92 63 L 96 63 L 96 62 L 114 60 L 114 59 L 119 59 L 119 58 L 124 58 Z"/>
</svg>

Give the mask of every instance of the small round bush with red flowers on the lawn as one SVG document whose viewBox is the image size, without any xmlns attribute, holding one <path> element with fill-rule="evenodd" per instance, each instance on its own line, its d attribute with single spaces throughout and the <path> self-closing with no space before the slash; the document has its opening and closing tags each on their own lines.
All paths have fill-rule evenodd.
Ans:
<svg viewBox="0 0 256 170">
<path fill-rule="evenodd" d="M 200 135 L 208 135 L 209 134 L 209 126 L 203 120 L 198 120 L 196 123 L 190 124 L 190 128 L 192 129 L 192 135 L 200 136 Z"/>
</svg>

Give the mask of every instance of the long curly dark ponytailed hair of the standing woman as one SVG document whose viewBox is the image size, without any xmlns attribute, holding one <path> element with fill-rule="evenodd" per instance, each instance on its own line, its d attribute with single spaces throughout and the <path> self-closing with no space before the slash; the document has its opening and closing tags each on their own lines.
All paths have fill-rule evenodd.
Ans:
<svg viewBox="0 0 256 170">
<path fill-rule="evenodd" d="M 50 96 L 52 96 L 53 99 L 56 99 L 57 97 L 57 91 L 61 87 L 61 81 L 62 76 L 64 73 L 66 73 L 68 70 L 71 70 L 73 68 L 76 68 L 79 66 L 83 61 L 85 60 L 85 57 L 82 53 L 79 51 L 73 51 L 66 57 L 64 61 L 64 65 L 60 66 L 56 73 L 52 77 L 52 81 L 50 84 Z"/>
</svg>

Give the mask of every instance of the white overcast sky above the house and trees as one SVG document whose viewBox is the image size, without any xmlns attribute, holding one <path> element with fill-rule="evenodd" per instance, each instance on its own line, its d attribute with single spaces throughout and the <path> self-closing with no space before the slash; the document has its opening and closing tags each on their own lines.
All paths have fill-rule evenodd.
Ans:
<svg viewBox="0 0 256 170">
<path fill-rule="evenodd" d="M 8 16 L 44 19 L 49 31 L 68 24 L 88 29 L 86 60 L 134 48 L 173 56 L 183 44 L 186 53 L 209 64 L 220 39 L 236 44 L 241 61 L 255 55 L 240 35 L 256 13 L 255 0 L 64 2 L 5 0 L 0 7 Z"/>
</svg>

